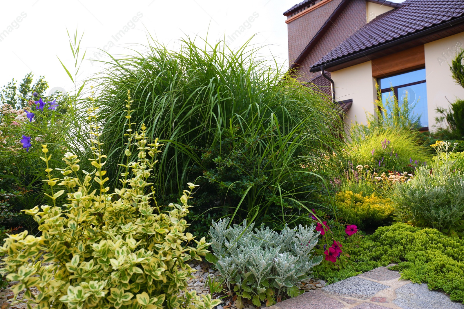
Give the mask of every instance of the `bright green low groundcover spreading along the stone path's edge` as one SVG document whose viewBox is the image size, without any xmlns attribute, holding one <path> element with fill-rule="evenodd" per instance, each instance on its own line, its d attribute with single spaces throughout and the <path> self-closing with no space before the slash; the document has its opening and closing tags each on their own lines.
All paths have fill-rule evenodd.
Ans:
<svg viewBox="0 0 464 309">
<path fill-rule="evenodd" d="M 464 303 L 464 240 L 436 229 L 398 222 L 379 227 L 355 245 L 345 246 L 350 256 L 345 268 L 334 270 L 319 265 L 314 268 L 314 276 L 332 283 L 398 263 L 392 269 L 400 271 L 401 278 L 426 283 L 429 289 L 443 290 L 452 300 Z"/>
</svg>

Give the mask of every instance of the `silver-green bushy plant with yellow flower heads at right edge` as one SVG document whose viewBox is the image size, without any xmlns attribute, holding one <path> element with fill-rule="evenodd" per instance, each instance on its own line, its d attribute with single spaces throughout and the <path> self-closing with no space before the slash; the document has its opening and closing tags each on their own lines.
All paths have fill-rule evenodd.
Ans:
<svg viewBox="0 0 464 309">
<path fill-rule="evenodd" d="M 421 166 L 413 179 L 393 188 L 399 221 L 436 228 L 445 234 L 464 234 L 464 175 L 451 160 L 449 142 L 432 145 L 438 156 Z"/>
</svg>

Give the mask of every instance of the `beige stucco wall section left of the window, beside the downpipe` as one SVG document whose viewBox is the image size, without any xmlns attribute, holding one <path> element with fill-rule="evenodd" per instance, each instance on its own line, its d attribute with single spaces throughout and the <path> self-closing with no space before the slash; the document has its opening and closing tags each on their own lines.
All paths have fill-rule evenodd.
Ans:
<svg viewBox="0 0 464 309">
<path fill-rule="evenodd" d="M 352 122 L 366 124 L 366 112 L 374 114 L 375 79 L 370 61 L 332 72 L 337 101 L 353 99 L 353 105 L 345 117 L 345 128 Z"/>
</svg>

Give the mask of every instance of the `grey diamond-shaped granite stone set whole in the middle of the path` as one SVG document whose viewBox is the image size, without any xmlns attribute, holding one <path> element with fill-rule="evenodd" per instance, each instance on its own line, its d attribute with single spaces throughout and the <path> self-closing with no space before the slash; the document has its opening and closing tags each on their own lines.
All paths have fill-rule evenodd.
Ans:
<svg viewBox="0 0 464 309">
<path fill-rule="evenodd" d="M 329 284 L 322 288 L 324 292 L 355 297 L 359 299 L 368 299 L 377 294 L 377 292 L 387 289 L 389 286 L 360 277 L 350 277 L 348 279 Z"/>
</svg>

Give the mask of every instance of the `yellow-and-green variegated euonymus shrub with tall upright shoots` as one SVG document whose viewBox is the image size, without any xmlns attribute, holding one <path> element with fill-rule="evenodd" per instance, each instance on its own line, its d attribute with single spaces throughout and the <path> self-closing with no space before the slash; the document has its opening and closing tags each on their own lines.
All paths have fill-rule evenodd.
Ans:
<svg viewBox="0 0 464 309">
<path fill-rule="evenodd" d="M 130 122 L 130 97 L 126 107 Z M 42 145 L 48 174 L 45 182 L 53 204 L 25 211 L 39 223 L 42 235 L 27 231 L 9 235 L 0 249 L 6 254 L 1 273 L 19 281 L 12 287 L 15 295 L 26 289 L 22 301 L 35 303 L 38 309 L 213 308 L 219 301 L 211 300 L 211 295 L 201 298 L 186 290 L 193 271 L 187 261 L 201 260 L 208 246 L 204 238 L 196 241 L 184 233 L 188 224 L 183 218 L 192 193 L 185 190 L 182 205 L 170 204 L 169 212 L 160 210 L 148 182 L 160 144 L 157 140 L 148 144 L 145 126 L 133 133 L 130 123 L 122 188 L 111 193 L 105 187 L 106 156 L 94 112 L 88 111 L 94 154 L 90 161 L 95 170 L 82 170 L 84 177 L 80 177 L 79 159 L 66 153 L 67 166 L 60 170 L 63 177 L 55 177 L 48 168 L 47 145 Z M 134 149 L 138 159 L 129 162 Z M 194 187 L 189 183 L 190 189 Z M 68 202 L 58 207 L 56 199 L 63 194 Z M 188 246 L 192 242 L 196 246 Z M 40 291 L 38 295 L 32 295 L 28 289 L 32 286 Z M 184 295 L 180 295 L 182 290 Z"/>
</svg>

